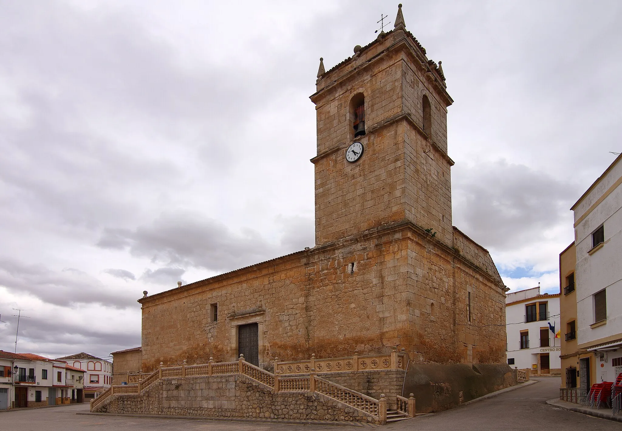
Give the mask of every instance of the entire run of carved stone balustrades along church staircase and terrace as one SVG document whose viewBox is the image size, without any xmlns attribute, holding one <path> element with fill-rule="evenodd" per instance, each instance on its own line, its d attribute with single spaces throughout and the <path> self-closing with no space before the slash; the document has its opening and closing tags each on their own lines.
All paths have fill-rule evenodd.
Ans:
<svg viewBox="0 0 622 431">
<path fill-rule="evenodd" d="M 259 384 L 269 387 L 274 392 L 317 392 L 318 394 L 349 405 L 364 414 L 371 415 L 374 419 L 384 424 L 386 423 L 387 411 L 387 401 L 384 395 L 382 395 L 380 400 L 377 400 L 368 395 L 348 389 L 345 386 L 341 386 L 340 384 L 322 379 L 322 377 L 316 375 L 315 367 L 319 368 L 317 371 L 321 369 L 328 369 L 330 371 L 330 369 L 333 369 L 333 363 L 335 367 L 338 367 L 337 363 L 339 362 L 346 367 L 346 371 L 348 371 L 348 369 L 349 371 L 366 369 L 368 365 L 370 369 L 404 369 L 404 367 L 406 367 L 406 364 L 404 364 L 405 357 L 406 355 L 397 353 L 397 351 L 394 350 L 388 355 L 362 356 L 360 358 L 355 354 L 353 358 L 318 360 L 315 359 L 315 355 L 312 355 L 310 361 L 307 362 L 277 362 L 276 368 L 279 372 L 281 371 L 281 366 L 289 367 L 289 364 L 302 363 L 304 365 L 307 363 L 313 366 L 309 367 L 308 376 L 296 377 L 281 377 L 280 374 L 287 374 L 286 372 L 272 374 L 271 372 L 244 361 L 244 355 L 240 355 L 239 360 L 234 362 L 214 362 L 213 358 L 210 358 L 207 364 L 199 365 L 187 365 L 184 360 L 181 366 L 176 367 L 164 367 L 164 364 L 160 362 L 160 367 L 151 374 L 140 372 L 139 374 L 128 376 L 128 381 L 133 384 L 109 387 L 99 397 L 91 401 L 91 411 L 101 407 L 107 400 L 111 399 L 113 395 L 142 394 L 149 386 L 160 379 L 242 374 L 245 377 L 250 377 Z M 349 365 L 348 361 L 350 361 Z M 297 370 L 297 367 L 295 369 Z M 341 371 L 341 367 L 338 367 L 335 371 Z M 397 397 L 398 409 L 411 417 L 414 416 L 414 402 L 415 399 L 412 394 L 410 399 Z"/>
</svg>

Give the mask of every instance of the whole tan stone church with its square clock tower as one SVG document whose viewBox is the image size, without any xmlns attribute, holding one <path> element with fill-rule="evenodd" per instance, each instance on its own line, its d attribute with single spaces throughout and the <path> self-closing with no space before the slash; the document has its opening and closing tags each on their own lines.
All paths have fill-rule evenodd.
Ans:
<svg viewBox="0 0 622 431">
<path fill-rule="evenodd" d="M 424 411 L 515 384 L 506 287 L 490 253 L 452 225 L 453 100 L 441 62 L 399 5 L 392 31 L 330 70 L 320 59 L 316 83 L 315 246 L 145 293 L 142 372 L 242 354 L 287 374 L 279 364 L 397 353 L 397 395 L 419 391 Z M 446 402 L 434 384 L 453 385 Z"/>
</svg>

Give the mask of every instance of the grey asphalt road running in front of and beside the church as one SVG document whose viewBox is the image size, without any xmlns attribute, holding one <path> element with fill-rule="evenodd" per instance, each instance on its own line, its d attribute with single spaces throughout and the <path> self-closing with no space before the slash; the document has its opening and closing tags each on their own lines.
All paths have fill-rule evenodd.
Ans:
<svg viewBox="0 0 622 431">
<path fill-rule="evenodd" d="M 546 404 L 559 395 L 559 377 L 541 377 L 537 384 L 521 387 L 496 397 L 457 407 L 445 412 L 389 424 L 379 429 L 402 431 L 621 431 L 620 422 L 569 412 Z M 322 425 L 259 424 L 215 420 L 151 419 L 119 416 L 77 415 L 88 411 L 88 404 L 63 405 L 44 409 L 0 412 L 0 431 L 41 430 L 131 430 L 131 431 L 268 431 L 268 430 L 364 430 L 371 427 L 334 427 Z M 375 427 L 374 427 L 375 428 Z"/>
</svg>

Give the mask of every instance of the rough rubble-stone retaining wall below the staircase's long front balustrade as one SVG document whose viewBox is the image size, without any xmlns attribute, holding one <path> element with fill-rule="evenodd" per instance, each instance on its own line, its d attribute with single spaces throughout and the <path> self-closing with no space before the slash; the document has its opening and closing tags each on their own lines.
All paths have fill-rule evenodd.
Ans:
<svg viewBox="0 0 622 431">
<path fill-rule="evenodd" d="M 371 422 L 356 409 L 319 394 L 275 393 L 239 374 L 162 379 L 143 395 L 114 395 L 97 412 L 116 414 Z"/>
</svg>

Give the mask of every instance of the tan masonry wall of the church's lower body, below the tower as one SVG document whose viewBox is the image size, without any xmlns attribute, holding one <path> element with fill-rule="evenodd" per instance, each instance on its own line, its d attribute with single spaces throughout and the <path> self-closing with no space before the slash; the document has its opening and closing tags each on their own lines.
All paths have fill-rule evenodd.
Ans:
<svg viewBox="0 0 622 431">
<path fill-rule="evenodd" d="M 348 271 L 354 263 L 354 271 Z M 472 321 L 467 289 L 474 290 Z M 260 324 L 260 362 L 384 354 L 411 361 L 504 362 L 504 295 L 460 253 L 409 224 L 315 247 L 141 300 L 142 369 L 231 361 L 238 324 Z M 210 321 L 210 304 L 220 318 Z"/>
</svg>

